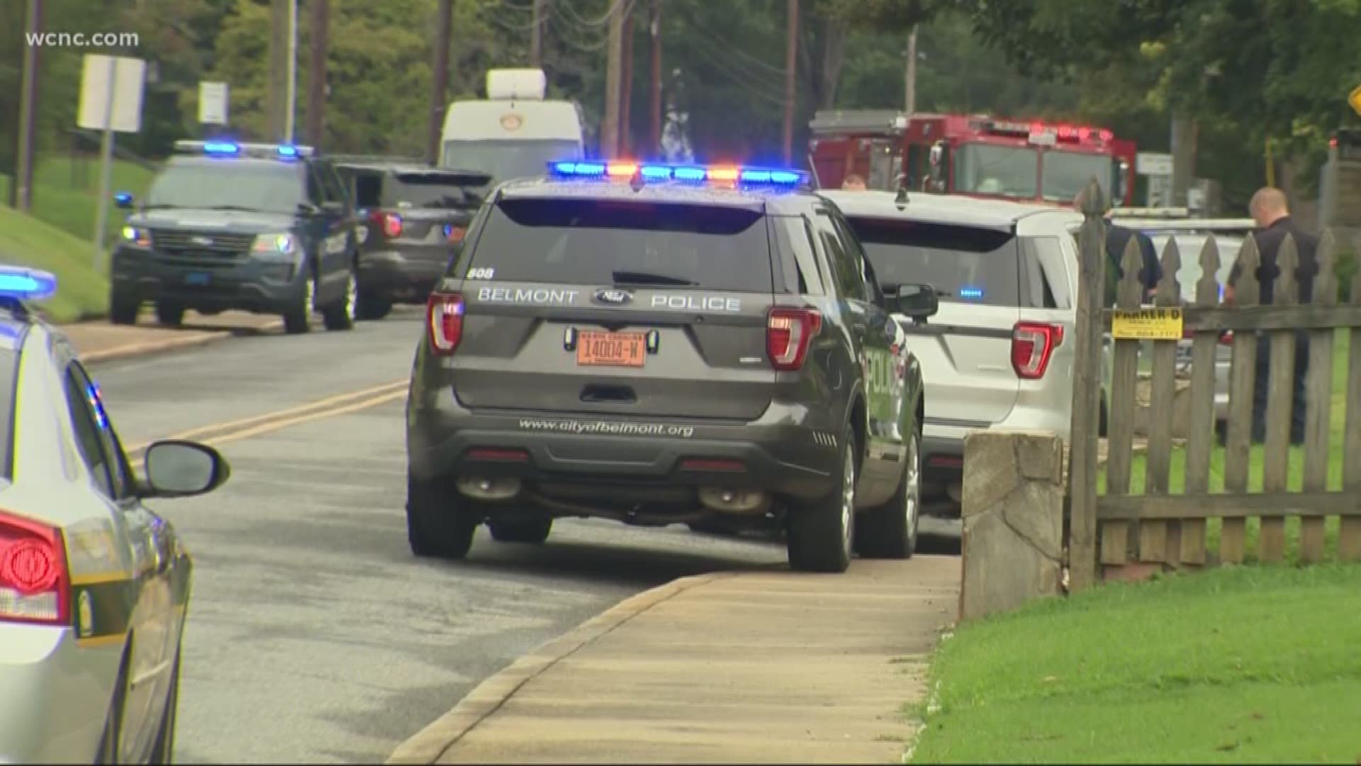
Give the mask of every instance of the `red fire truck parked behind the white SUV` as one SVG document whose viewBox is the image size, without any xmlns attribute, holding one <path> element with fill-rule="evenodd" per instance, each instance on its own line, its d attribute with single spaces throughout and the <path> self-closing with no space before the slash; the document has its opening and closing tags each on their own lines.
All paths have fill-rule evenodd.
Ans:
<svg viewBox="0 0 1361 766">
<path fill-rule="evenodd" d="M 893 110 L 818 112 L 810 127 L 821 188 L 856 173 L 871 189 L 1072 204 L 1096 177 L 1115 204 L 1134 203 L 1134 142 L 1108 128 Z"/>
</svg>

